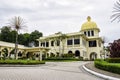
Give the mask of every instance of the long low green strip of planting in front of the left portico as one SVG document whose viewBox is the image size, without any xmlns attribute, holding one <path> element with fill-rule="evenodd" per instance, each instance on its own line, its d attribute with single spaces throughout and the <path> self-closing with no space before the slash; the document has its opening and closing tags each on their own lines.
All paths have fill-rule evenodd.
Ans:
<svg viewBox="0 0 120 80">
<path fill-rule="evenodd" d="M 45 61 L 38 61 L 38 60 L 0 60 L 0 64 L 36 65 L 36 64 L 45 64 Z"/>
</svg>

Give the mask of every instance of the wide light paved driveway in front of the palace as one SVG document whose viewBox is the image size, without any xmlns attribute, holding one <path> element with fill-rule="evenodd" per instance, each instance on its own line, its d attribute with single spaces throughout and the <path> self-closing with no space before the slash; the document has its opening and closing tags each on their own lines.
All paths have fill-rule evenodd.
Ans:
<svg viewBox="0 0 120 80">
<path fill-rule="evenodd" d="M 87 62 L 47 62 L 35 67 L 0 67 L 0 80 L 103 80 L 82 69 Z"/>
</svg>

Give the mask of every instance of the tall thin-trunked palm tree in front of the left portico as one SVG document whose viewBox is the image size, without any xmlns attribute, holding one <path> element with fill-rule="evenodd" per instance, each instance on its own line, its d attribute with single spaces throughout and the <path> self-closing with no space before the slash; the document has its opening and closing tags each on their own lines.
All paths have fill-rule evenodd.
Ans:
<svg viewBox="0 0 120 80">
<path fill-rule="evenodd" d="M 21 17 L 14 17 L 10 20 L 10 27 L 16 30 L 16 41 L 15 41 L 15 59 L 17 59 L 17 50 L 18 50 L 18 32 L 21 29 L 26 27 L 24 20 Z"/>
</svg>

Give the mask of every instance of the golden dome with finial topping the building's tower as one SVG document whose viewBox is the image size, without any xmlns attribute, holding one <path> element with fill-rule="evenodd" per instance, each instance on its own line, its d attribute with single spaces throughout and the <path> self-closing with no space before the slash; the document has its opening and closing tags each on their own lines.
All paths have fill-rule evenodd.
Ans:
<svg viewBox="0 0 120 80">
<path fill-rule="evenodd" d="M 83 23 L 82 26 L 81 26 L 81 31 L 83 31 L 83 30 L 91 30 L 91 29 L 99 30 L 99 28 L 97 27 L 97 24 L 95 22 L 92 22 L 91 17 L 88 16 L 87 17 L 87 22 Z"/>
</svg>

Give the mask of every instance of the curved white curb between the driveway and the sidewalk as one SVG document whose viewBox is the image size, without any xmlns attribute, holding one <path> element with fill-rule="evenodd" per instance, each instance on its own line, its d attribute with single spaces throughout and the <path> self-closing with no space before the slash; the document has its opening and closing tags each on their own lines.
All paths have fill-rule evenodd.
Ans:
<svg viewBox="0 0 120 80">
<path fill-rule="evenodd" d="M 119 78 L 115 78 L 115 77 L 111 77 L 111 76 L 107 76 L 107 75 L 103 75 L 103 74 L 100 74 L 100 73 L 97 73 L 95 71 L 92 71 L 88 68 L 85 67 L 85 65 L 82 66 L 84 70 L 86 70 L 87 72 L 95 75 L 95 76 L 98 76 L 98 77 L 101 77 L 103 79 L 106 79 L 106 80 L 120 80 Z"/>
</svg>

